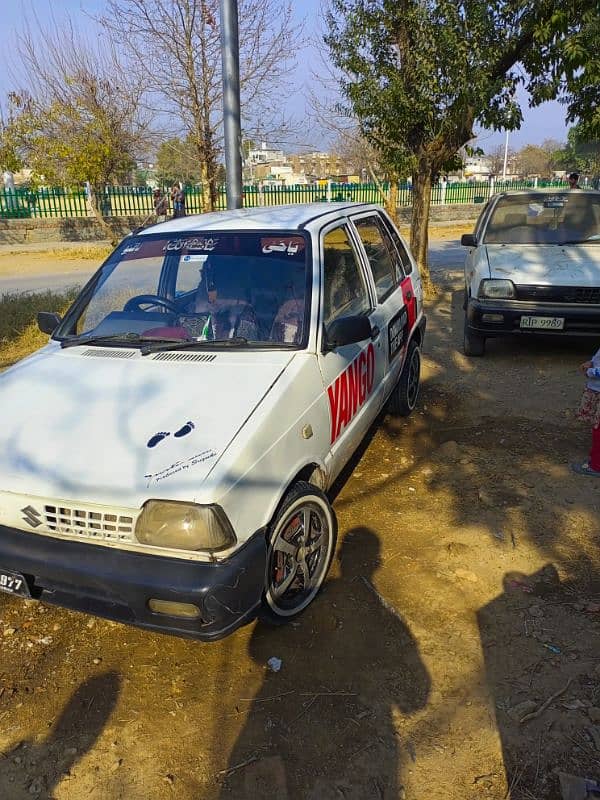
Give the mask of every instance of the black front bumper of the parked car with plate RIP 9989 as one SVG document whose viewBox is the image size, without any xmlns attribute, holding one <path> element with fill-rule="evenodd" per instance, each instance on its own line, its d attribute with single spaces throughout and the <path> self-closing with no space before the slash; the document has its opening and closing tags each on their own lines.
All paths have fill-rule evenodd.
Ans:
<svg viewBox="0 0 600 800">
<path fill-rule="evenodd" d="M 543 334 L 552 336 L 599 336 L 600 306 L 582 303 L 537 303 L 523 300 L 478 300 L 467 303 L 469 329 L 480 336 Z M 484 315 L 501 315 L 502 321 L 489 322 Z M 521 328 L 521 317 L 563 317 L 562 330 Z"/>
</svg>

